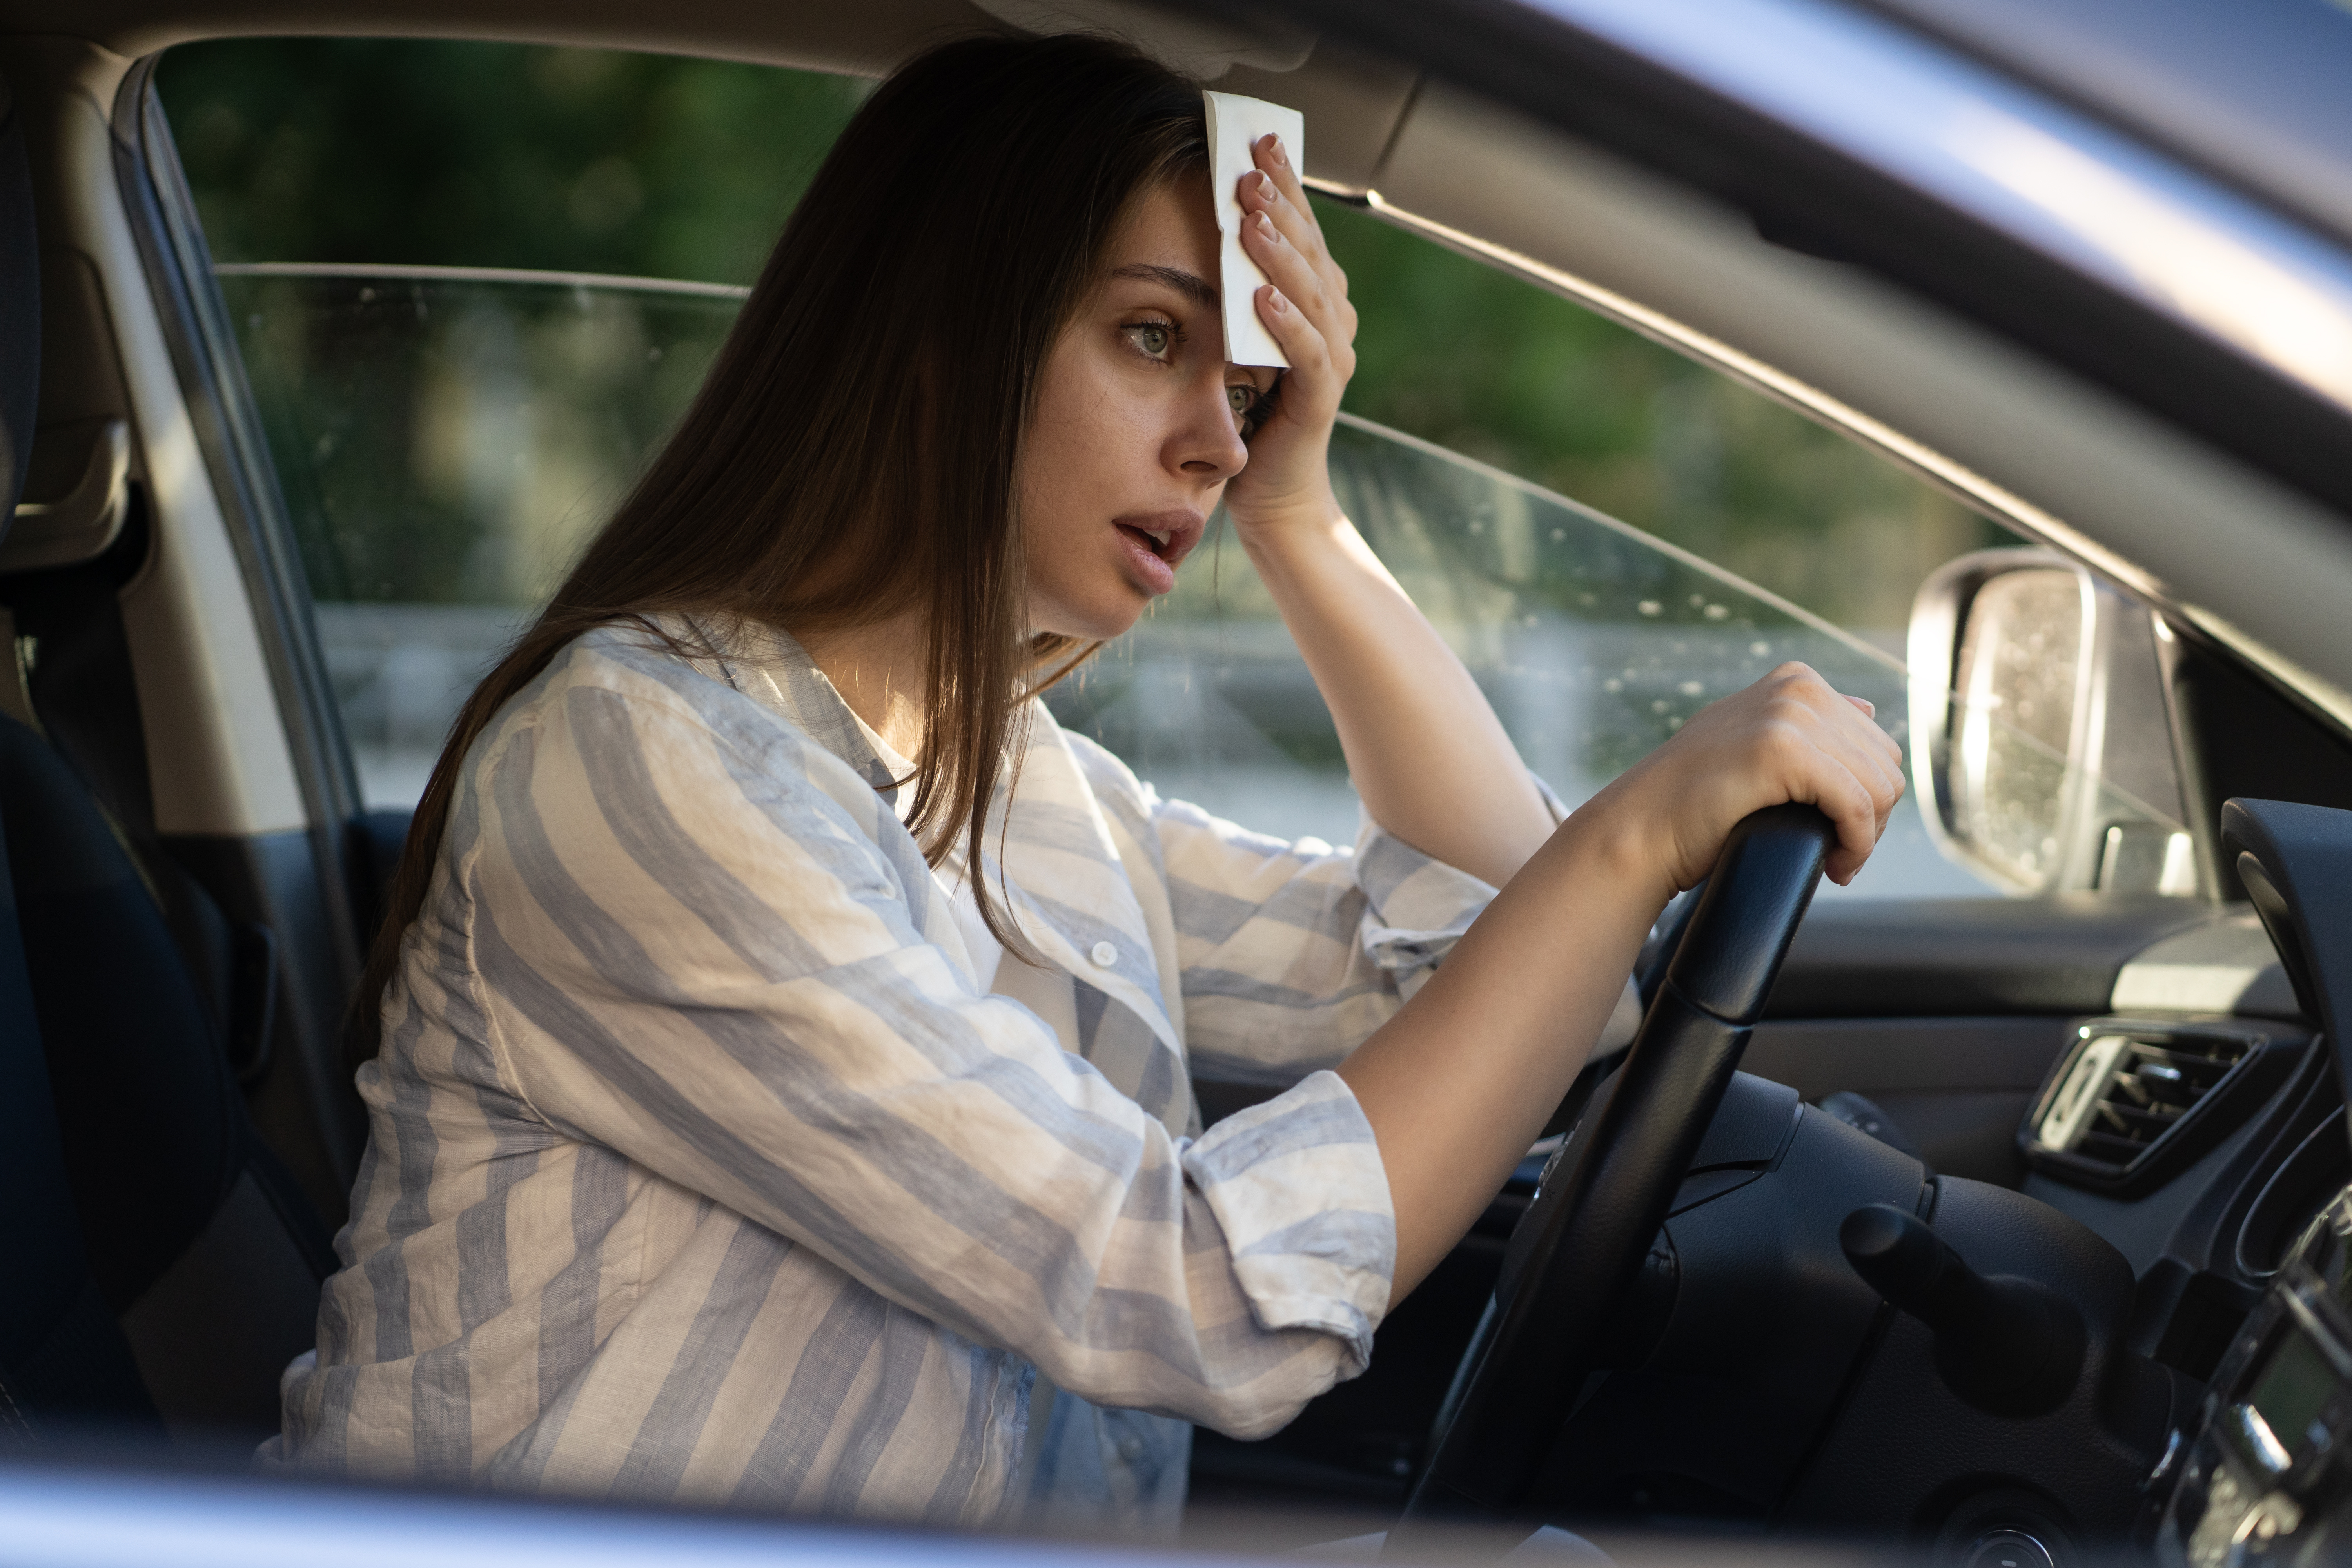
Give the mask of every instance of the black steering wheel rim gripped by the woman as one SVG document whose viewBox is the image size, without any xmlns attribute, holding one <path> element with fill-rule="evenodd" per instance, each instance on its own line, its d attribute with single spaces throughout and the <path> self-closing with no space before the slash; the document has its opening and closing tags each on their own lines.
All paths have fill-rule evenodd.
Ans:
<svg viewBox="0 0 2352 1568">
<path fill-rule="evenodd" d="M 1510 1239 L 1494 1307 L 1446 1399 L 1428 1467 L 1388 1533 L 1414 1554 L 1458 1526 L 1522 1521 L 1618 1298 L 1764 1013 L 1837 830 L 1813 806 L 1740 820 L 1691 907 L 1613 1088 L 1552 1157 Z M 1444 1533 L 1437 1530 L 1444 1526 Z"/>
</svg>

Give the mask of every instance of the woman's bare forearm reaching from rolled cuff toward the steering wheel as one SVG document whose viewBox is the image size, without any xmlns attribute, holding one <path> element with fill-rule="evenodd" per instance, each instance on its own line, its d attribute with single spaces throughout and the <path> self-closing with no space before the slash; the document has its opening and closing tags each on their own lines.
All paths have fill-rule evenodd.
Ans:
<svg viewBox="0 0 2352 1568">
<path fill-rule="evenodd" d="M 1381 1145 L 1397 1213 L 1392 1300 L 1503 1187 L 1599 1039 L 1672 896 L 1604 790 L 1486 907 L 1338 1074 Z"/>
</svg>

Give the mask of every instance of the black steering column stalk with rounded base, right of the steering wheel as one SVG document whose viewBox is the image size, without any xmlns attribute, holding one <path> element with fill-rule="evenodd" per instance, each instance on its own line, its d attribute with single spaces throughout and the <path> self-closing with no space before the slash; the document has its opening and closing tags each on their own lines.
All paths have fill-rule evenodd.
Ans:
<svg viewBox="0 0 2352 1568">
<path fill-rule="evenodd" d="M 1917 1215 L 1870 1204 L 1837 1227 L 1872 1291 L 1936 1331 L 1936 1371 L 1990 1415 L 2042 1415 L 2082 1373 L 2084 1328 L 2056 1291 L 2018 1274 L 1978 1274 Z"/>
</svg>

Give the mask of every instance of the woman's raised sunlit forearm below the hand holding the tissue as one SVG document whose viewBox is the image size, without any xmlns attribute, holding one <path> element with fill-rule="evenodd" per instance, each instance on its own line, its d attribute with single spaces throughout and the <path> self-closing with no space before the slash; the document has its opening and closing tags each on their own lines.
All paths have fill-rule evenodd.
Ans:
<svg viewBox="0 0 2352 1568">
<path fill-rule="evenodd" d="M 1486 693 L 1362 534 L 1324 522 L 1244 529 L 1364 809 L 1414 849 L 1503 886 L 1552 832 Z"/>
</svg>

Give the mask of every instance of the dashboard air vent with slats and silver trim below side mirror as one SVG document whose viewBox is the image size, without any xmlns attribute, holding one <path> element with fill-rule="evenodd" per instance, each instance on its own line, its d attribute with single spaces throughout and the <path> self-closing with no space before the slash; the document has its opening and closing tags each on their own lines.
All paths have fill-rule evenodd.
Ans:
<svg viewBox="0 0 2352 1568">
<path fill-rule="evenodd" d="M 2025 1121 L 2025 1154 L 2096 1185 L 2154 1175 L 2159 1154 L 2190 1154 L 2190 1128 L 2209 1124 L 2267 1044 L 2237 1030 L 2086 1023 Z"/>
</svg>

